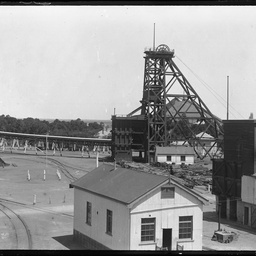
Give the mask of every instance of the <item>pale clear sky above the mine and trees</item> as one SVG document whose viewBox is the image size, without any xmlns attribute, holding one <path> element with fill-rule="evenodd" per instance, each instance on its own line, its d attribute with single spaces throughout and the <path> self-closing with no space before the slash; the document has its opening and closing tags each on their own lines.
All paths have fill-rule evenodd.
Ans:
<svg viewBox="0 0 256 256">
<path fill-rule="evenodd" d="M 0 6 L 0 115 L 100 119 L 141 105 L 144 50 L 166 44 L 210 111 L 256 116 L 254 6 Z"/>
</svg>

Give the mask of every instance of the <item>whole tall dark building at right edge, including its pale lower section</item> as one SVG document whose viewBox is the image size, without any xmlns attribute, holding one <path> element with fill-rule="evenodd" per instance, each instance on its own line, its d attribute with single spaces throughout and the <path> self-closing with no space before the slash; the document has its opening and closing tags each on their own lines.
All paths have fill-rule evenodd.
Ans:
<svg viewBox="0 0 256 256">
<path fill-rule="evenodd" d="M 224 158 L 213 159 L 221 217 L 256 228 L 256 120 L 225 120 Z"/>
</svg>

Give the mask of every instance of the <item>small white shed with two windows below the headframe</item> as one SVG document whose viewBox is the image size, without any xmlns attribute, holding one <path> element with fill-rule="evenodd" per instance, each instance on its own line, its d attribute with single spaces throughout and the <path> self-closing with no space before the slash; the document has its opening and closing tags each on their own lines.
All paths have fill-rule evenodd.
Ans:
<svg viewBox="0 0 256 256">
<path fill-rule="evenodd" d="M 156 162 L 168 164 L 194 164 L 195 153 L 189 146 L 156 147 Z"/>
</svg>

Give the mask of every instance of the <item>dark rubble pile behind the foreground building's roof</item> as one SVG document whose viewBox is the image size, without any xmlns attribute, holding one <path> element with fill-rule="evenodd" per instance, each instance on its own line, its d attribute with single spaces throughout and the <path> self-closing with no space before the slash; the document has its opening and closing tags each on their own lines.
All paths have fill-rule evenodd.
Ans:
<svg viewBox="0 0 256 256">
<path fill-rule="evenodd" d="M 172 178 L 189 188 L 193 188 L 194 186 L 208 186 L 212 184 L 212 170 L 203 166 L 203 162 L 198 162 L 193 165 L 173 165 L 167 163 L 145 164 L 121 161 L 117 164 L 123 168 L 130 168 L 156 175 L 171 175 Z"/>
</svg>

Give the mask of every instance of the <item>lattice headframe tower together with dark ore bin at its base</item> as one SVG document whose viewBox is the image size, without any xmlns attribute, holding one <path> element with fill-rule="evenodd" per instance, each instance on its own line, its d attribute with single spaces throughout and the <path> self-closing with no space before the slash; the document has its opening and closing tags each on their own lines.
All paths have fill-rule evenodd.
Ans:
<svg viewBox="0 0 256 256">
<path fill-rule="evenodd" d="M 181 141 L 200 159 L 221 157 L 222 120 L 211 113 L 179 70 L 174 50 L 161 44 L 144 53 L 141 105 L 126 117 L 112 116 L 113 158 L 131 161 L 137 151 L 145 162 L 154 162 L 156 147 Z M 206 146 L 198 134 L 209 134 L 213 143 Z M 217 148 L 214 156 L 213 148 Z"/>
</svg>

